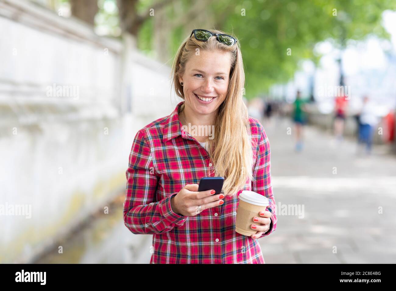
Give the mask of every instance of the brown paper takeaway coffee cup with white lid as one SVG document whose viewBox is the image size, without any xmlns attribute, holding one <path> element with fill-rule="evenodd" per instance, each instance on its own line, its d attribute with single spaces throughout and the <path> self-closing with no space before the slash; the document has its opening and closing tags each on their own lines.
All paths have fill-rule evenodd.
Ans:
<svg viewBox="0 0 396 291">
<path fill-rule="evenodd" d="M 260 217 L 259 212 L 264 211 L 268 206 L 268 198 L 253 191 L 242 191 L 239 194 L 239 205 L 236 211 L 235 231 L 238 234 L 251 236 L 257 230 L 250 228 L 254 224 L 253 217 Z"/>
</svg>

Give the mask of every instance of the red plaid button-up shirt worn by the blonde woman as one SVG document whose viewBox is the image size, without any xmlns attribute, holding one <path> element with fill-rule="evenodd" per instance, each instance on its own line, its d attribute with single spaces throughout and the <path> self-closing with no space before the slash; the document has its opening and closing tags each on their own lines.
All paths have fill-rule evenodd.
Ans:
<svg viewBox="0 0 396 291">
<path fill-rule="evenodd" d="M 269 200 L 269 230 L 276 230 L 275 200 L 270 178 L 270 146 L 263 126 L 249 117 L 253 144 L 254 182 L 224 204 L 187 217 L 171 209 L 171 197 L 186 184 L 214 177 L 208 152 L 194 137 L 181 131 L 178 108 L 139 130 L 126 171 L 124 223 L 134 234 L 153 234 L 150 264 L 264 264 L 257 239 L 235 232 L 236 210 L 242 190 Z M 257 213 L 257 216 L 259 214 Z M 253 220 L 252 220 L 253 224 Z"/>
</svg>

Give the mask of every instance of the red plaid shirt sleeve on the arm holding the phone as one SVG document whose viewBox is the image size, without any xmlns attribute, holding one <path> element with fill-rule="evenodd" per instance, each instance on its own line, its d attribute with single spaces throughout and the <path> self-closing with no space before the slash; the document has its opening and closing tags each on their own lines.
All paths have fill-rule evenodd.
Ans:
<svg viewBox="0 0 396 291">
<path fill-rule="evenodd" d="M 182 226 L 187 216 L 178 215 L 171 208 L 171 193 L 156 200 L 158 175 L 154 169 L 152 152 L 143 130 L 137 132 L 126 171 L 124 224 L 134 234 L 161 234 Z"/>
</svg>

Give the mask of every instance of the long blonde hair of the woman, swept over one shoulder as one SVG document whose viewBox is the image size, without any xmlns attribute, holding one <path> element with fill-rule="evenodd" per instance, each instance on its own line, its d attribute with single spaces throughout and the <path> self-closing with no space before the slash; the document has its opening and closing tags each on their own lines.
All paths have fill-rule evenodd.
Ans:
<svg viewBox="0 0 396 291">
<path fill-rule="evenodd" d="M 220 30 L 209 31 L 225 33 Z M 211 36 L 208 41 L 196 40 L 194 35 L 187 37 L 177 51 L 171 72 L 176 94 L 182 99 L 185 98 L 179 76 L 184 74 L 185 65 L 192 53 L 195 53 L 196 48 L 205 51 L 229 52 L 231 55 L 228 91 L 225 100 L 218 109 L 214 139 L 209 139 L 208 152 L 214 162 L 215 175 L 225 178 L 224 194 L 233 196 L 244 188 L 248 178 L 251 181 L 253 180 L 253 151 L 249 138 L 250 124 L 247 108 L 242 99 L 245 72 L 240 43 L 237 42 L 234 46 L 227 46 L 217 41 L 216 36 Z M 184 106 L 180 109 L 180 112 L 183 109 Z"/>
</svg>

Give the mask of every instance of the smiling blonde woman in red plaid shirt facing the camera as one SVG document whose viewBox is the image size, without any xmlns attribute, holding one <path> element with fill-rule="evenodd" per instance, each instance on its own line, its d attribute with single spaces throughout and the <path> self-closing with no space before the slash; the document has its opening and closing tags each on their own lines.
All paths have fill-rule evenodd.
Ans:
<svg viewBox="0 0 396 291">
<path fill-rule="evenodd" d="M 193 30 L 172 66 L 184 101 L 138 131 L 126 171 L 124 223 L 153 234 L 150 263 L 265 263 L 257 238 L 276 229 L 270 146 L 263 126 L 247 116 L 244 70 L 236 39 Z M 191 128 L 214 128 L 194 130 Z M 225 177 L 223 193 L 198 192 L 202 177 Z M 270 201 L 251 218 L 257 232 L 235 232 L 238 196 L 252 190 Z"/>
</svg>

